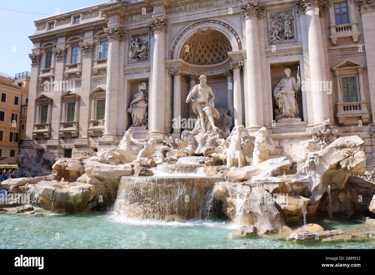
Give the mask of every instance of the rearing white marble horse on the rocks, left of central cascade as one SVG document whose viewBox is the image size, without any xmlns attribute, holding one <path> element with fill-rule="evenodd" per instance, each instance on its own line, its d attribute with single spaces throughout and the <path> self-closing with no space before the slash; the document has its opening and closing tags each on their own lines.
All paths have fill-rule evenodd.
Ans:
<svg viewBox="0 0 375 275">
<path fill-rule="evenodd" d="M 99 156 L 99 162 L 109 161 L 109 156 L 114 156 L 115 159 L 121 160 L 124 164 L 134 161 L 136 152 L 130 146 L 131 134 L 132 130 L 127 130 L 117 147 L 113 147 Z"/>
</svg>

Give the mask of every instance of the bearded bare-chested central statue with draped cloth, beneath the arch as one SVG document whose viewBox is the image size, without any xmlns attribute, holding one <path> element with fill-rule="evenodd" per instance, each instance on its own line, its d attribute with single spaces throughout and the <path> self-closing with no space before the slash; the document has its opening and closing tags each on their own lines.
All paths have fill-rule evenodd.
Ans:
<svg viewBox="0 0 375 275">
<path fill-rule="evenodd" d="M 214 118 L 218 119 L 219 112 L 214 108 L 214 94 L 211 87 L 207 85 L 207 77 L 201 75 L 199 77 L 201 83 L 195 85 L 190 90 L 186 98 L 186 103 L 193 102 L 193 111 L 198 116 L 197 122 L 191 131 L 192 135 L 207 133 L 217 129 L 215 127 Z M 211 98 L 209 98 L 211 96 Z"/>
</svg>

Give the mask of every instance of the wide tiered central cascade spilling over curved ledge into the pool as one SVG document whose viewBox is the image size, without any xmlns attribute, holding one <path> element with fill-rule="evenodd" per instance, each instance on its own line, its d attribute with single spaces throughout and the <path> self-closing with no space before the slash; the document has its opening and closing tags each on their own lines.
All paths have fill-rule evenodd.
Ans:
<svg viewBox="0 0 375 275">
<path fill-rule="evenodd" d="M 121 177 L 115 210 L 128 218 L 165 219 L 179 215 L 184 219 L 210 219 L 213 186 L 223 177 L 197 174 L 202 166 L 159 164 L 154 176 Z M 169 173 L 160 176 L 158 172 Z M 179 174 L 189 176 L 175 176 Z"/>
</svg>

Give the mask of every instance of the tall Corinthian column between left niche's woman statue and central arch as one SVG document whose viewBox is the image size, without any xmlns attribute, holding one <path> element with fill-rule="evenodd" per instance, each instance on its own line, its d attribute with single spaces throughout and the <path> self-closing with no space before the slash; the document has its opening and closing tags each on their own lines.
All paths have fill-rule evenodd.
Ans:
<svg viewBox="0 0 375 275">
<path fill-rule="evenodd" d="M 153 71 L 152 71 L 152 106 L 151 106 L 151 125 L 149 135 L 165 134 L 164 116 L 165 116 L 165 31 L 166 22 L 164 18 L 155 18 L 149 21 L 148 27 L 154 33 L 154 53 L 153 53 Z"/>
</svg>

